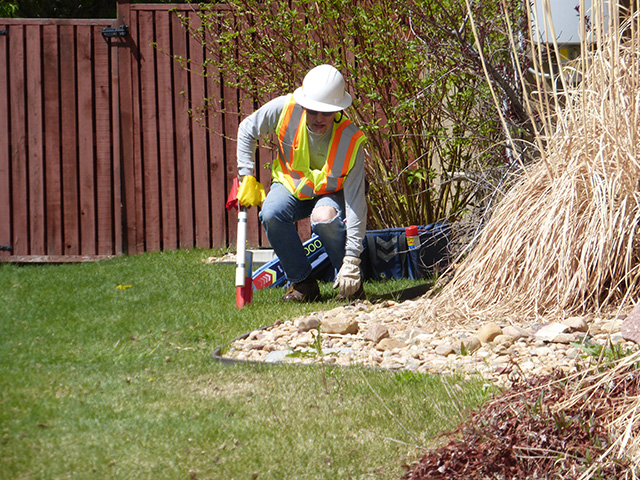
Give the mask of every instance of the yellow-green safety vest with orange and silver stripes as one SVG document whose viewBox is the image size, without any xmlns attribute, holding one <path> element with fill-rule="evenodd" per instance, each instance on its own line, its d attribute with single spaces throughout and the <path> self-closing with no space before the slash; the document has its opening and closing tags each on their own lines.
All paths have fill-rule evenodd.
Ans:
<svg viewBox="0 0 640 480">
<path fill-rule="evenodd" d="M 289 95 L 278 120 L 278 158 L 272 166 L 273 179 L 300 200 L 341 190 L 366 139 L 350 120 L 333 122 L 327 161 L 321 170 L 312 169 L 306 120 L 305 110 Z"/>
</svg>

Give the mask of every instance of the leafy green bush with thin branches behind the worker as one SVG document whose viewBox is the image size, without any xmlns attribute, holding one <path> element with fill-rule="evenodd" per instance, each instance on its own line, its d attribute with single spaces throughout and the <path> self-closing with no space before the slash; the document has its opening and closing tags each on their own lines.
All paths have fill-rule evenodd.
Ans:
<svg viewBox="0 0 640 480">
<path fill-rule="evenodd" d="M 203 72 L 226 72 L 222 81 L 243 92 L 240 102 L 258 105 L 291 92 L 321 63 L 344 74 L 354 96 L 348 116 L 369 140 L 370 228 L 458 219 L 485 206 L 504 167 L 518 165 L 523 149 L 507 140 L 526 133 L 528 118 L 502 12 L 519 30 L 527 2 L 475 2 L 472 17 L 460 0 L 228 5 L 201 5 L 202 26 L 183 20 L 208 52 Z"/>
</svg>

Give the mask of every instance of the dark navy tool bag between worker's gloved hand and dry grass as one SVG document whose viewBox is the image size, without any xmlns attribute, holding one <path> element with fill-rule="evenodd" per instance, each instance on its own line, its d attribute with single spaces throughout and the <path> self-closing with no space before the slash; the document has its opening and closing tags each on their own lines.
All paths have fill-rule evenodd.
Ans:
<svg viewBox="0 0 640 480">
<path fill-rule="evenodd" d="M 417 231 L 419 241 L 410 242 L 404 227 L 367 231 L 360 255 L 364 279 L 416 280 L 446 267 L 450 257 L 450 226 L 445 223 L 419 225 Z"/>
</svg>

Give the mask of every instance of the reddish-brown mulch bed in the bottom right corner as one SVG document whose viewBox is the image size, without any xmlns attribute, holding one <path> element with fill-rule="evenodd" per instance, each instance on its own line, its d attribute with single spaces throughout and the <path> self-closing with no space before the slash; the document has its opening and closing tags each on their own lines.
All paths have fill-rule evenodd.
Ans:
<svg viewBox="0 0 640 480">
<path fill-rule="evenodd" d="M 558 408 L 593 380 L 575 381 L 554 374 L 513 386 L 446 434 L 448 443 L 408 466 L 403 480 L 578 478 L 610 446 L 604 422 L 616 399 L 640 394 L 640 375 L 629 373 Z M 593 478 L 620 478 L 626 463 L 609 459 Z"/>
</svg>

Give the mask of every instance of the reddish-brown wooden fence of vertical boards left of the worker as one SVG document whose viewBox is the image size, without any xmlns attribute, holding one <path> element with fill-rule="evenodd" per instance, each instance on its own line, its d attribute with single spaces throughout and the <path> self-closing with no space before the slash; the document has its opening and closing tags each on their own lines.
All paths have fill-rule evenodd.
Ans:
<svg viewBox="0 0 640 480">
<path fill-rule="evenodd" d="M 254 105 L 232 72 L 174 60 L 209 54 L 176 12 L 198 22 L 188 5 L 124 0 L 115 20 L 0 19 L 0 261 L 235 244 L 224 205 Z M 266 245 L 255 208 L 248 230 Z"/>
</svg>

